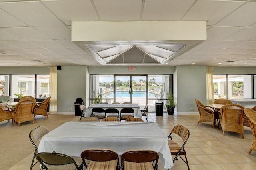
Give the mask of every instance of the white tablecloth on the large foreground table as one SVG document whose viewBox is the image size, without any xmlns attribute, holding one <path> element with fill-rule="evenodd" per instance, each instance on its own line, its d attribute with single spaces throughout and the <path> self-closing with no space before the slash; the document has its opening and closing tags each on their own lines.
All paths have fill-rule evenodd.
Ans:
<svg viewBox="0 0 256 170">
<path fill-rule="evenodd" d="M 130 149 L 156 150 L 164 168 L 173 166 L 168 139 L 156 122 L 66 122 L 43 136 L 39 152 L 80 156 L 88 148 L 107 148 L 121 155 Z"/>
</svg>

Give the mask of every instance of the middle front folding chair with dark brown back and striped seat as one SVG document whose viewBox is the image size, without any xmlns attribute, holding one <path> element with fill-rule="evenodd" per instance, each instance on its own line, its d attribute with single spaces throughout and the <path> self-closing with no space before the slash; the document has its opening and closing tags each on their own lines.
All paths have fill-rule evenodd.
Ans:
<svg viewBox="0 0 256 170">
<path fill-rule="evenodd" d="M 86 149 L 81 153 L 81 158 L 86 170 L 119 170 L 119 158 L 114 150 Z M 89 160 L 88 164 L 86 160 Z"/>
</svg>

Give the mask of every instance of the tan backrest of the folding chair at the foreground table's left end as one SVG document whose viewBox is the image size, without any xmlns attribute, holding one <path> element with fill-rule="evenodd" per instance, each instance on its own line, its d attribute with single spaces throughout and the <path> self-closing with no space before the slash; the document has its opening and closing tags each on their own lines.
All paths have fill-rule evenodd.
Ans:
<svg viewBox="0 0 256 170">
<path fill-rule="evenodd" d="M 42 138 L 42 136 L 48 134 L 49 132 L 50 130 L 45 126 L 38 126 L 37 128 L 34 128 L 30 131 L 29 139 L 36 149 L 38 149 L 38 146 L 36 146 L 36 142 L 38 141 L 38 139 Z"/>
</svg>

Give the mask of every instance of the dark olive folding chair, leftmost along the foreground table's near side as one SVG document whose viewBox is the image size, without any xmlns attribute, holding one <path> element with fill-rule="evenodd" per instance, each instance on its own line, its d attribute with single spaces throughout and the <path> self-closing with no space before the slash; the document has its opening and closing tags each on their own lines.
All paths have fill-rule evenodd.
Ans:
<svg viewBox="0 0 256 170">
<path fill-rule="evenodd" d="M 38 153 L 36 159 L 46 170 L 80 170 L 83 165 L 81 157 L 70 157 L 55 152 Z M 50 167 L 45 164 L 50 165 Z"/>
</svg>

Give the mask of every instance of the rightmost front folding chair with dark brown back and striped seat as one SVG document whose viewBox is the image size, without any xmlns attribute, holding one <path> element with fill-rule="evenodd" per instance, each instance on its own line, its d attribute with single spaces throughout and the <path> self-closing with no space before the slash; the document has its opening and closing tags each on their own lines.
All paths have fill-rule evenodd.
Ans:
<svg viewBox="0 0 256 170">
<path fill-rule="evenodd" d="M 156 170 L 159 155 L 154 150 L 127 150 L 121 156 L 122 170 Z"/>
</svg>

